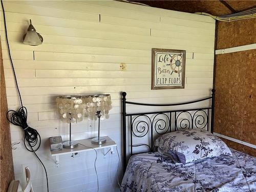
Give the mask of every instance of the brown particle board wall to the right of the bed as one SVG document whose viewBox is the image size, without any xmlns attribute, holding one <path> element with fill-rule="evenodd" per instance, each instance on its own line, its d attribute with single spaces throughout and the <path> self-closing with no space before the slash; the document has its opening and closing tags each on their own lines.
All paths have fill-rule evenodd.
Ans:
<svg viewBox="0 0 256 192">
<path fill-rule="evenodd" d="M 245 27 L 246 26 L 246 27 Z M 218 23 L 217 49 L 254 44 L 256 19 Z M 256 50 L 217 55 L 216 133 L 256 144 Z M 256 156 L 256 150 L 224 140 L 239 151 Z"/>
</svg>

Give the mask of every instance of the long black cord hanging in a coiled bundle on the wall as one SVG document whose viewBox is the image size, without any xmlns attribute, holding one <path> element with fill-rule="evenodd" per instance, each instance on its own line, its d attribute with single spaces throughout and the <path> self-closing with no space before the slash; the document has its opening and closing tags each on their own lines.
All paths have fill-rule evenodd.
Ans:
<svg viewBox="0 0 256 192">
<path fill-rule="evenodd" d="M 6 117 L 7 117 L 8 121 L 10 123 L 12 123 L 16 126 L 22 127 L 22 129 L 24 131 L 24 140 L 23 140 L 24 146 L 27 148 L 28 151 L 33 152 L 35 154 L 37 159 L 40 161 L 40 163 L 44 167 L 45 173 L 46 173 L 47 191 L 49 192 L 48 176 L 47 176 L 46 167 L 45 167 L 44 163 L 42 163 L 40 158 L 35 153 L 40 147 L 41 137 L 40 137 L 39 133 L 35 129 L 30 127 L 27 123 L 28 111 L 27 111 L 27 108 L 25 106 L 23 106 L 22 96 L 20 96 L 20 92 L 19 92 L 19 88 L 18 88 L 18 82 L 17 82 L 17 78 L 16 78 L 16 74 L 15 74 L 15 70 L 14 70 L 14 66 L 13 66 L 13 62 L 12 62 L 12 57 L 11 57 L 11 51 L 10 51 L 10 46 L 9 46 L 7 27 L 6 27 L 5 9 L 4 9 L 4 5 L 3 5 L 2 0 L 1 0 L 1 5 L 2 5 L 2 8 L 3 8 L 3 14 L 4 14 L 4 25 L 5 25 L 5 34 L 6 34 L 8 54 L 9 54 L 9 57 L 10 57 L 10 60 L 11 60 L 12 71 L 13 71 L 13 75 L 14 75 L 16 88 L 17 88 L 17 91 L 18 91 L 20 104 L 22 105 L 21 108 L 19 108 L 18 111 L 14 111 L 14 110 L 8 111 L 7 114 L 6 114 Z"/>
</svg>

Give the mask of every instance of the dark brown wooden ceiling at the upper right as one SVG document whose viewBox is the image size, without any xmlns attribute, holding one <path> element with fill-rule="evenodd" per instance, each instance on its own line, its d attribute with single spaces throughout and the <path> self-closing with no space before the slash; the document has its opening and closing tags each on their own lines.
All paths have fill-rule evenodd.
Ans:
<svg viewBox="0 0 256 192">
<path fill-rule="evenodd" d="M 136 1 L 129 0 L 130 2 L 138 2 L 157 7 L 162 9 L 169 9 L 175 11 L 182 11 L 188 13 L 206 12 L 212 15 L 225 15 L 235 13 L 244 9 L 256 6 L 256 1 Z"/>
</svg>

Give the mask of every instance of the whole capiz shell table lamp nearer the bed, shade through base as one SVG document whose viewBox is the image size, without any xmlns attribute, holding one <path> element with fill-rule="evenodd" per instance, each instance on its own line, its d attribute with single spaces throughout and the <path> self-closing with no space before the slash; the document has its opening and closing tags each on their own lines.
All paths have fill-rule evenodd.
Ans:
<svg viewBox="0 0 256 192">
<path fill-rule="evenodd" d="M 87 105 L 88 119 L 97 120 L 98 118 L 98 137 L 93 138 L 92 143 L 103 144 L 106 139 L 99 136 L 100 119 L 109 118 L 109 111 L 112 109 L 110 94 L 88 95 L 84 97 L 84 103 Z"/>
</svg>

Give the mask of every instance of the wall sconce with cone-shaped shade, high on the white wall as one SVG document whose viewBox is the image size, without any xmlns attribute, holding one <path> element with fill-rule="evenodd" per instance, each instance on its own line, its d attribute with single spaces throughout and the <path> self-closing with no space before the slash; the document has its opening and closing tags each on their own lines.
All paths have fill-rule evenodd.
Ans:
<svg viewBox="0 0 256 192">
<path fill-rule="evenodd" d="M 23 43 L 31 46 L 38 46 L 42 44 L 42 36 L 36 32 L 34 26 L 32 25 L 31 19 L 28 32 L 23 36 Z"/>
</svg>

